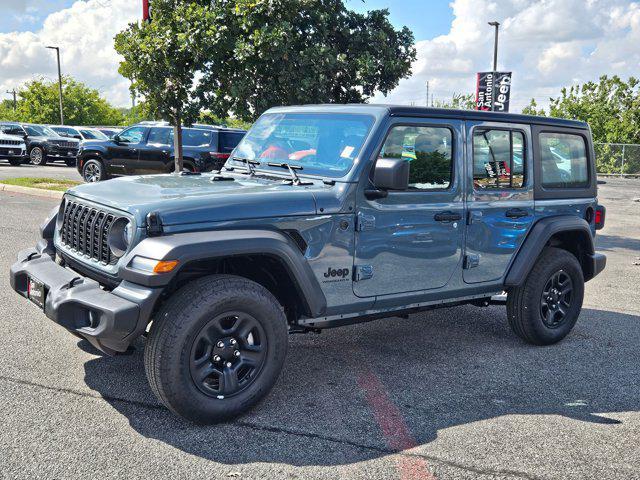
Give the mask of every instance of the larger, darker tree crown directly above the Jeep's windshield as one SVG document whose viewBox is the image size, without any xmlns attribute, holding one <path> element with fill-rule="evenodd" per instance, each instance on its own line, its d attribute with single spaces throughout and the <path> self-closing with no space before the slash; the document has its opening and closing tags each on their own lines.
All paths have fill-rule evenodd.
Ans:
<svg viewBox="0 0 640 480">
<path fill-rule="evenodd" d="M 213 2 L 198 93 L 213 114 L 252 121 L 277 105 L 361 103 L 411 71 L 414 37 L 388 10 L 359 14 L 343 0 Z"/>
</svg>

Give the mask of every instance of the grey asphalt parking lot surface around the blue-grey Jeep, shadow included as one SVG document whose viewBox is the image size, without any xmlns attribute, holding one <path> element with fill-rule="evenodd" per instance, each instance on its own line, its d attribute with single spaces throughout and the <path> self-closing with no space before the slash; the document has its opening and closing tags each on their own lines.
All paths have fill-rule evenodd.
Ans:
<svg viewBox="0 0 640 480">
<path fill-rule="evenodd" d="M 522 343 L 501 307 L 293 336 L 265 402 L 195 427 L 153 397 L 142 342 L 101 356 L 11 291 L 55 201 L 2 192 L 0 477 L 637 478 L 639 197 L 640 180 L 600 186 L 608 266 L 559 345 Z"/>
</svg>

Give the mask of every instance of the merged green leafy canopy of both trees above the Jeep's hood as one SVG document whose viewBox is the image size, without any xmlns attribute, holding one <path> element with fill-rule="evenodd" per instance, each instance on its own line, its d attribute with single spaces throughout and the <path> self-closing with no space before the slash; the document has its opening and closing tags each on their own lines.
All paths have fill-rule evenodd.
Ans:
<svg viewBox="0 0 640 480">
<path fill-rule="evenodd" d="M 413 34 L 343 0 L 152 0 L 116 36 L 120 72 L 159 116 L 253 121 L 277 105 L 364 102 L 410 73 Z M 196 81 L 197 80 L 197 81 Z"/>
</svg>

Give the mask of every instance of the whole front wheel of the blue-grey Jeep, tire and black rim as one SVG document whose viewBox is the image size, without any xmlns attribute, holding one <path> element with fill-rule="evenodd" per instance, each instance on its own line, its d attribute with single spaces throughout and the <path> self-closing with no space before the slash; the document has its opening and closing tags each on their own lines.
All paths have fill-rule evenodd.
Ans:
<svg viewBox="0 0 640 480">
<path fill-rule="evenodd" d="M 151 389 L 201 424 L 238 416 L 275 384 L 287 353 L 284 311 L 264 287 L 212 275 L 179 290 L 154 319 L 145 348 Z"/>
</svg>

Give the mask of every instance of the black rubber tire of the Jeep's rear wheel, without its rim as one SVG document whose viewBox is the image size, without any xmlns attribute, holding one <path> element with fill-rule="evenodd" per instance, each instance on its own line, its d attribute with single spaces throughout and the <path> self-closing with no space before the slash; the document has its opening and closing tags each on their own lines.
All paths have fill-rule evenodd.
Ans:
<svg viewBox="0 0 640 480">
<path fill-rule="evenodd" d="M 553 328 L 543 319 L 541 302 L 547 282 L 557 274 L 566 274 L 572 282 L 572 297 L 565 319 Z M 545 248 L 524 283 L 507 296 L 507 317 L 513 332 L 533 345 L 551 345 L 566 337 L 576 324 L 584 297 L 584 276 L 576 257 L 554 247 Z"/>
</svg>

